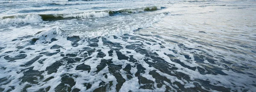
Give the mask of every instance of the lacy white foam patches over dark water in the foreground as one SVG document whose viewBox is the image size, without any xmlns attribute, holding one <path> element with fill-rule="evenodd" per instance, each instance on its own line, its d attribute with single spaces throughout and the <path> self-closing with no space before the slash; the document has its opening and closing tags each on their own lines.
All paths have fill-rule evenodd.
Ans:
<svg viewBox="0 0 256 92">
<path fill-rule="evenodd" d="M 246 63 L 238 65 L 207 50 L 161 39 L 167 36 L 63 39 L 45 34 L 49 33 L 23 36 L 12 41 L 15 47 L 1 48 L 1 91 L 253 91 L 255 87 L 255 74 L 247 71 L 255 65 L 243 68 Z"/>
</svg>

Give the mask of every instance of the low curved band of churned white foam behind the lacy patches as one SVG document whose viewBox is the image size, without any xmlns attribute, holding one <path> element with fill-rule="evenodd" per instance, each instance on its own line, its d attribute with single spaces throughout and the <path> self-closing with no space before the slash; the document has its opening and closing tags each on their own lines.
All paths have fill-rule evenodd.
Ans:
<svg viewBox="0 0 256 92">
<path fill-rule="evenodd" d="M 95 28 L 93 30 L 88 31 L 79 31 L 79 30 L 65 30 L 66 25 L 63 27 L 56 28 L 56 34 L 59 36 L 80 36 L 80 37 L 97 37 L 97 36 L 120 36 L 125 33 L 131 33 L 139 28 L 147 28 L 150 27 L 154 22 L 159 21 L 165 14 L 158 14 L 154 17 L 149 17 L 143 19 L 143 21 L 135 21 L 130 20 L 119 20 L 122 24 L 113 24 L 108 25 L 102 28 Z M 115 19 L 118 20 L 118 19 Z M 114 21 L 114 20 L 113 20 Z"/>
</svg>

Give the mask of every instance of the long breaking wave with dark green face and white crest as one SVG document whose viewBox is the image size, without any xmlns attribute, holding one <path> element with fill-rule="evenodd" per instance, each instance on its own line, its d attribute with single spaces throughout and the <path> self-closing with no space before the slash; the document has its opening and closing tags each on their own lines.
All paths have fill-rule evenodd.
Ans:
<svg viewBox="0 0 256 92">
<path fill-rule="evenodd" d="M 27 14 L 27 15 L 15 15 L 7 16 L 0 18 L 0 25 L 19 25 L 24 23 L 35 23 L 42 21 L 55 21 L 55 20 L 64 20 L 64 19 L 73 19 L 73 18 L 100 18 L 107 16 L 114 16 L 115 14 L 133 14 L 140 13 L 145 11 L 157 11 L 164 7 L 152 6 L 144 8 L 135 8 L 135 9 L 122 9 L 118 11 L 92 11 L 76 14 Z"/>
</svg>

